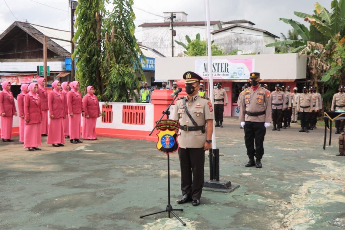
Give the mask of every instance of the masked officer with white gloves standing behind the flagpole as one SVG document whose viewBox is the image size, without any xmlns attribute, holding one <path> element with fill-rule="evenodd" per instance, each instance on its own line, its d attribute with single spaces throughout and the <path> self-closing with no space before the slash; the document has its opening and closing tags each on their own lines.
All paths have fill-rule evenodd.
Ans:
<svg viewBox="0 0 345 230">
<path fill-rule="evenodd" d="M 271 97 L 269 91 L 258 86 L 260 73 L 250 73 L 252 87 L 243 91 L 239 119 L 244 127 L 244 141 L 249 161 L 245 167 L 262 168 L 264 138 L 271 122 Z M 254 148 L 255 143 L 255 148 Z M 254 160 L 256 157 L 256 161 Z"/>
</svg>

